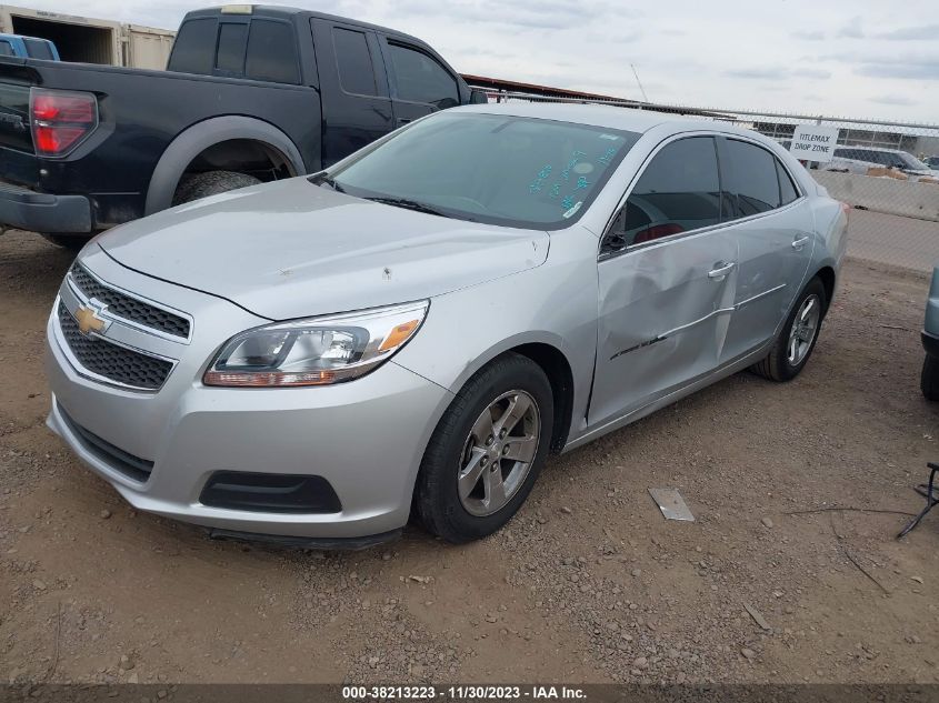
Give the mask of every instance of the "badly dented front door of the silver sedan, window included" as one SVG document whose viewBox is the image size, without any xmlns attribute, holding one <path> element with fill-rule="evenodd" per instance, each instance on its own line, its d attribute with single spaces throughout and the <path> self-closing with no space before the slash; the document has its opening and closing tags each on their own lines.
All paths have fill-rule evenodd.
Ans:
<svg viewBox="0 0 939 703">
<path fill-rule="evenodd" d="M 670 141 L 647 162 L 601 244 L 590 425 L 719 364 L 737 281 L 720 202 L 711 137 Z"/>
</svg>

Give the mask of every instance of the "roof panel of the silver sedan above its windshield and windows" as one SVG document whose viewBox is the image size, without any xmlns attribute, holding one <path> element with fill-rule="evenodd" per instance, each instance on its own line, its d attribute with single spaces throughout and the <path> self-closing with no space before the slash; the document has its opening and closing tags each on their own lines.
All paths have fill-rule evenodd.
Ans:
<svg viewBox="0 0 939 703">
<path fill-rule="evenodd" d="M 560 122 L 573 122 L 576 124 L 589 124 L 591 127 L 606 127 L 608 129 L 638 133 L 645 133 L 655 127 L 667 124 L 675 131 L 707 130 L 741 134 L 750 138 L 756 134 L 768 142 L 772 141 L 765 138 L 762 134 L 759 134 L 759 132 L 733 127 L 726 122 L 716 122 L 705 118 L 696 119 L 676 117 L 669 112 L 637 110 L 635 108 L 621 108 L 619 106 L 521 101 L 507 103 L 490 102 L 487 104 L 451 108 L 448 112 L 478 112 L 483 114 L 508 114 L 512 117 L 540 118 L 543 120 L 558 120 Z"/>
</svg>

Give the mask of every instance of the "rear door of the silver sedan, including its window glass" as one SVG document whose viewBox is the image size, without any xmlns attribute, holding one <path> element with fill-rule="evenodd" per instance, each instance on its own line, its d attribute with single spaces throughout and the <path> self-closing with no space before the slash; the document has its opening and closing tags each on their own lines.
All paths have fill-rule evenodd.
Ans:
<svg viewBox="0 0 939 703">
<path fill-rule="evenodd" d="M 812 258 L 815 221 L 795 179 L 768 149 L 718 138 L 723 220 L 739 250 L 735 312 L 721 361 L 753 351 L 775 334 Z"/>
</svg>

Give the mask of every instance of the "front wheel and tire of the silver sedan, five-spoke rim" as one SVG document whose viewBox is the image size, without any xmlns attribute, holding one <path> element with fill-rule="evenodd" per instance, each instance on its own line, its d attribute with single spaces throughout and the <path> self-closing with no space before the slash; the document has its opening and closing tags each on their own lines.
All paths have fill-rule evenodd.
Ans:
<svg viewBox="0 0 939 703">
<path fill-rule="evenodd" d="M 505 525 L 528 498 L 548 455 L 553 409 L 548 376 L 527 356 L 508 353 L 477 372 L 443 413 L 421 461 L 414 512 L 424 528 L 447 542 L 460 544 Z M 498 434 L 505 420 L 502 412 L 521 418 L 505 438 Z M 489 424 L 483 413 L 488 413 Z M 511 419 L 506 424 L 511 424 Z M 488 428 L 493 433 L 481 436 Z M 491 439 L 491 444 L 487 444 L 487 439 Z M 528 462 L 507 459 L 512 452 L 522 458 L 532 452 L 533 455 Z M 498 459 L 493 470 L 495 456 Z M 496 486 L 491 494 L 490 482 Z M 471 484 L 475 489 L 468 492 Z"/>
</svg>

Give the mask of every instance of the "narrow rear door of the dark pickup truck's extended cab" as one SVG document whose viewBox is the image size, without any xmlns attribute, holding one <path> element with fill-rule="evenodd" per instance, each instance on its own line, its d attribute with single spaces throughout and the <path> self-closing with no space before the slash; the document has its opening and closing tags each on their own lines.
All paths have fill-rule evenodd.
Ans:
<svg viewBox="0 0 939 703">
<path fill-rule="evenodd" d="M 374 32 L 313 18 L 322 98 L 322 165 L 393 129 L 391 98 Z"/>
</svg>

